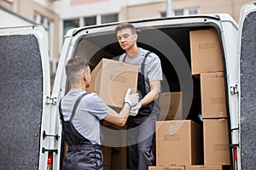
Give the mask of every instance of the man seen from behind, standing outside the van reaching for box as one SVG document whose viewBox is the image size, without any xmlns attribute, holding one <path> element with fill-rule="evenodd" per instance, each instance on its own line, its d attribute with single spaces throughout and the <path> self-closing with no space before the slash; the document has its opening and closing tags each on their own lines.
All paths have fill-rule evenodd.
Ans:
<svg viewBox="0 0 256 170">
<path fill-rule="evenodd" d="M 124 126 L 131 106 L 137 105 L 139 96 L 130 94 L 129 88 L 124 107 L 118 114 L 97 94 L 86 93 L 90 86 L 90 67 L 86 59 L 69 59 L 65 69 L 71 89 L 59 103 L 62 132 L 68 145 L 62 169 L 102 170 L 100 121 Z"/>
</svg>

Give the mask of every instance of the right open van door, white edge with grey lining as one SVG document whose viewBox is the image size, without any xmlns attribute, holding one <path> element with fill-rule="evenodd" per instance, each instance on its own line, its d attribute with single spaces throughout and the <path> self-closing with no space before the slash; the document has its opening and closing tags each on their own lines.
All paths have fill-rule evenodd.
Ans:
<svg viewBox="0 0 256 170">
<path fill-rule="evenodd" d="M 237 166 L 253 170 L 256 167 L 256 3 L 247 3 L 241 8 L 239 23 L 241 112 Z"/>
</svg>

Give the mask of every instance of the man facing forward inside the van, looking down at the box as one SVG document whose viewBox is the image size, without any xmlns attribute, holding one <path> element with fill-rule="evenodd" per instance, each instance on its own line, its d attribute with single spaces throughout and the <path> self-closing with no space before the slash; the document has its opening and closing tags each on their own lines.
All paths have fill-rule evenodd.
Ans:
<svg viewBox="0 0 256 170">
<path fill-rule="evenodd" d="M 141 94 L 140 102 L 131 107 L 127 120 L 128 155 L 131 170 L 147 170 L 155 164 L 152 144 L 155 121 L 160 114 L 157 102 L 160 93 L 162 69 L 159 57 L 146 49 L 137 47 L 137 31 L 130 23 L 119 23 L 115 29 L 116 36 L 125 54 L 120 61 L 139 65 L 137 90 Z"/>
</svg>

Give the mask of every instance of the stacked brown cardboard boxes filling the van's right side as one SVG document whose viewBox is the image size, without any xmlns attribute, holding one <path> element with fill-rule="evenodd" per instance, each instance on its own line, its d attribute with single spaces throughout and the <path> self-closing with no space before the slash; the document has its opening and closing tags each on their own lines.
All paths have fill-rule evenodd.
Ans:
<svg viewBox="0 0 256 170">
<path fill-rule="evenodd" d="M 165 111 L 168 102 L 160 103 L 161 109 L 167 112 L 161 114 L 167 115 L 167 119 L 156 122 L 156 166 L 149 170 L 222 170 L 224 165 L 230 165 L 224 67 L 218 32 L 215 29 L 190 31 L 189 38 L 191 74 L 201 82 L 202 126 L 193 120 L 177 120 L 178 110 L 177 118 L 169 119 L 170 114 Z"/>
</svg>

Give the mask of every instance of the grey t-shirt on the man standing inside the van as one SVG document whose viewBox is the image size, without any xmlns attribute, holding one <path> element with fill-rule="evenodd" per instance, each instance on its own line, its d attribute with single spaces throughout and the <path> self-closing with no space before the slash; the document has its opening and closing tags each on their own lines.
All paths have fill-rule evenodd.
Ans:
<svg viewBox="0 0 256 170">
<path fill-rule="evenodd" d="M 131 65 L 138 65 L 139 66 L 139 72 L 141 73 L 141 65 L 143 63 L 143 59 L 145 55 L 148 53 L 148 50 L 139 48 L 140 52 L 135 57 L 129 57 L 126 56 L 125 63 L 129 63 Z M 119 61 L 123 61 L 125 54 L 122 54 L 119 57 Z M 148 58 L 145 61 L 145 69 L 144 69 L 144 77 L 145 77 L 145 88 L 146 92 L 148 93 L 150 90 L 149 82 L 156 81 L 156 80 L 163 80 L 162 77 L 162 67 L 160 63 L 159 57 L 154 54 L 150 53 L 148 55 Z"/>
</svg>

